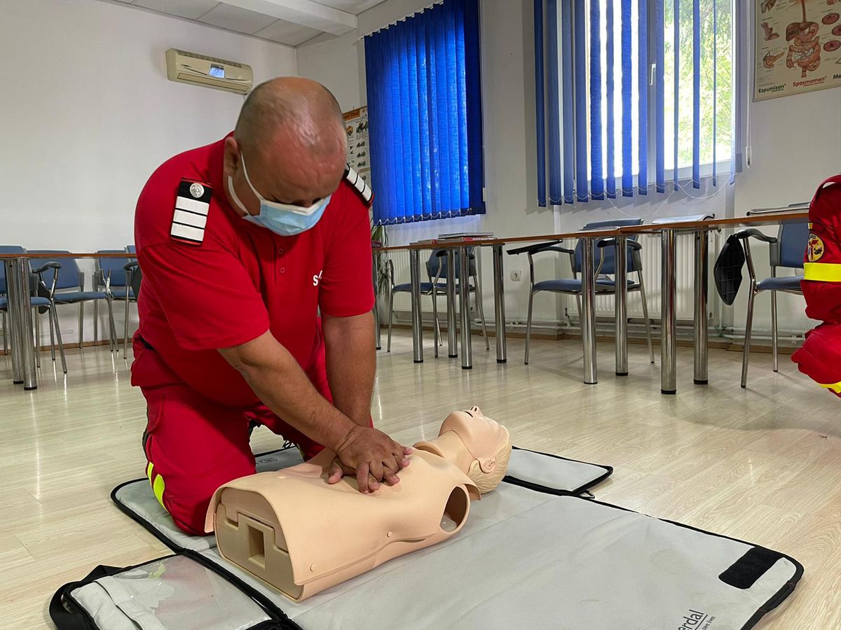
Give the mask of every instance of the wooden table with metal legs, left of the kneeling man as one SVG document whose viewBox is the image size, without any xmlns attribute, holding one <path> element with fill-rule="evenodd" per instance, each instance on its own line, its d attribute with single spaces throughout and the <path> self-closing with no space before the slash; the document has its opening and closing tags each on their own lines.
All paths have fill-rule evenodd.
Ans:
<svg viewBox="0 0 841 630">
<path fill-rule="evenodd" d="M 35 346 L 32 330 L 32 303 L 29 299 L 29 260 L 56 258 L 135 258 L 134 254 L 95 252 L 58 254 L 0 254 L 6 266 L 9 329 L 12 333 L 12 381 L 24 390 L 38 388 Z"/>
</svg>

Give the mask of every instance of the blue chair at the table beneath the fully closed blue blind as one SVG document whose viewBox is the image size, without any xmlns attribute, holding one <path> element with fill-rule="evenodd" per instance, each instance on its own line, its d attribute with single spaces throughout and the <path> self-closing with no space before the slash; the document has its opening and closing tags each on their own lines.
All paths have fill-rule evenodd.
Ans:
<svg viewBox="0 0 841 630">
<path fill-rule="evenodd" d="M 394 320 L 394 293 L 410 293 L 412 291 L 412 285 L 410 282 L 405 282 L 404 284 L 399 285 L 395 284 L 394 263 L 391 260 L 387 260 L 385 266 L 386 270 L 389 272 L 389 279 L 391 281 L 391 287 L 389 290 L 389 343 L 386 349 L 387 352 L 391 352 L 391 327 Z M 461 267 L 459 266 L 457 256 L 455 276 L 453 276 L 453 280 L 456 283 L 456 295 L 458 295 L 460 291 L 460 286 L 458 284 L 458 278 L 460 277 L 459 270 L 461 270 Z M 429 281 L 421 282 L 421 295 L 432 297 L 433 336 L 435 339 L 436 357 L 438 356 L 438 346 L 443 344 L 441 324 L 438 321 L 437 298 L 439 296 L 447 296 L 447 273 L 447 249 L 433 249 L 429 255 L 429 259 L 426 260 L 426 276 L 429 278 Z M 479 311 L 479 319 L 482 322 L 482 334 L 484 335 L 485 349 L 490 349 L 488 328 L 485 323 L 484 310 L 482 308 L 482 286 L 479 283 L 479 274 L 476 268 L 476 255 L 473 253 L 472 247 L 468 248 L 468 275 L 473 280 L 470 282 L 468 279 L 468 291 L 469 293 L 473 293 L 473 302 L 476 305 L 476 310 Z M 455 308 L 455 304 L 447 303 L 447 310 L 450 308 Z"/>
</svg>

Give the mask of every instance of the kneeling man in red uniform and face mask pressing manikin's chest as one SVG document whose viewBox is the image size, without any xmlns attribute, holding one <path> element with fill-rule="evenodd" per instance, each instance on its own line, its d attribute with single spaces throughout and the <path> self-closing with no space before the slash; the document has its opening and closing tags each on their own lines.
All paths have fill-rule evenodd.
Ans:
<svg viewBox="0 0 841 630">
<path fill-rule="evenodd" d="M 255 472 L 252 423 L 306 457 L 335 452 L 329 481 L 356 475 L 365 493 L 409 464 L 371 426 L 372 196 L 346 143 L 331 93 L 282 77 L 251 92 L 233 134 L 167 160 L 140 193 L 132 384 L 146 474 L 187 533 L 205 533 L 217 487 Z"/>
</svg>

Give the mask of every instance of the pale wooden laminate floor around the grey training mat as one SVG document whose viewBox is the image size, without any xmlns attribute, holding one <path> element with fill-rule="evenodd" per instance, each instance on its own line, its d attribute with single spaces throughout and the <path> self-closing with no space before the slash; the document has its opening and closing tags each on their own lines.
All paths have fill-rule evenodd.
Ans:
<svg viewBox="0 0 841 630">
<path fill-rule="evenodd" d="M 383 336 L 384 342 L 384 336 Z M 613 465 L 596 491 L 656 517 L 760 543 L 806 567 L 801 584 L 760 627 L 841 628 L 841 400 L 780 359 L 756 354 L 748 389 L 740 354 L 711 351 L 709 386 L 691 380 L 691 349 L 678 349 L 678 395 L 659 393 L 659 364 L 630 349 L 631 375 L 613 375 L 600 345 L 600 383 L 581 383 L 574 340 L 536 341 L 531 365 L 510 340 L 497 365 L 473 337 L 474 368 L 411 360 L 408 333 L 379 354 L 374 422 L 411 444 L 433 437 L 452 409 L 478 404 L 515 443 Z M 443 353 L 446 357 L 446 351 Z M 658 359 L 659 360 L 659 359 Z M 167 553 L 112 505 L 119 482 L 144 475 L 145 404 L 129 363 L 106 348 L 68 353 L 66 380 L 42 357 L 38 391 L 11 384 L 0 356 L 0 628 L 49 626 L 56 587 L 97 564 L 136 564 Z M 265 429 L 255 449 L 278 446 Z M 597 630 L 597 629 L 594 629 Z"/>
</svg>

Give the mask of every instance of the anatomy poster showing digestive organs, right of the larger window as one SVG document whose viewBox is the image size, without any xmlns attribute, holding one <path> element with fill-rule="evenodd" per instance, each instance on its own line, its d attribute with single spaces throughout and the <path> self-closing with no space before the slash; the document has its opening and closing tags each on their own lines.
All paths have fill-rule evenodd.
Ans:
<svg viewBox="0 0 841 630">
<path fill-rule="evenodd" d="M 841 86 L 841 0 L 756 0 L 754 100 Z"/>
</svg>

